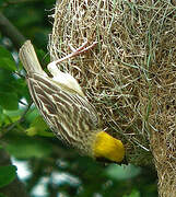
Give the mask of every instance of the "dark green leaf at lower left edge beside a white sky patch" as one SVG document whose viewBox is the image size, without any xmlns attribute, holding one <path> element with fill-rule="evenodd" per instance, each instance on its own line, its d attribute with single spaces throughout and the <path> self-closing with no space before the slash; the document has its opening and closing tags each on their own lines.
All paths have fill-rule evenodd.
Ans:
<svg viewBox="0 0 176 197">
<path fill-rule="evenodd" d="M 0 187 L 10 184 L 16 177 L 14 165 L 0 166 Z"/>
</svg>

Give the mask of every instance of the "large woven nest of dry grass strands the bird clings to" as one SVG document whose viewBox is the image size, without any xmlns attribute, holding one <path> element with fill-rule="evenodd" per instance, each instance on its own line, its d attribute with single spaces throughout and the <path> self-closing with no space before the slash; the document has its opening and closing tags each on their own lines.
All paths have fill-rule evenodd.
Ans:
<svg viewBox="0 0 176 197">
<path fill-rule="evenodd" d="M 49 42 L 51 60 L 71 53 L 69 44 L 98 42 L 60 68 L 78 79 L 103 128 L 124 141 L 128 162 L 154 163 L 164 190 L 176 185 L 175 10 L 165 0 L 59 0 Z"/>
</svg>

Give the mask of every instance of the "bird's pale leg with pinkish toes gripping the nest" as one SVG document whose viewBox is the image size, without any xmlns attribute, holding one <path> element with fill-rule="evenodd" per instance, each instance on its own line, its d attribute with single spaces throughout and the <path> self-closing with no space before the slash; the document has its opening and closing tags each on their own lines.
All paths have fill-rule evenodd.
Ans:
<svg viewBox="0 0 176 197">
<path fill-rule="evenodd" d="M 61 61 L 64 61 L 66 59 L 72 58 L 74 56 L 78 56 L 84 51 L 87 51 L 89 49 L 93 48 L 95 45 L 97 44 L 97 42 L 94 42 L 92 45 L 87 46 L 87 40 L 84 42 L 79 48 L 74 49 L 72 46 L 70 46 L 72 53 L 67 55 L 63 58 L 60 58 L 56 61 L 50 62 L 47 68 L 49 70 L 49 72 L 55 77 L 58 76 L 58 72 L 60 72 L 60 70 L 57 68 L 57 65 L 60 63 Z M 87 47 L 86 47 L 87 46 Z"/>
</svg>

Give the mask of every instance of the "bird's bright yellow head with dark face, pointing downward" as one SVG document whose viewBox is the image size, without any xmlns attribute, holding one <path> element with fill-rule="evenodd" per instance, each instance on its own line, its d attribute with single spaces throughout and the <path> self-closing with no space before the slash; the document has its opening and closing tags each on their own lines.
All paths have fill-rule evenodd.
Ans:
<svg viewBox="0 0 176 197">
<path fill-rule="evenodd" d="M 120 140 L 99 131 L 93 144 L 93 157 L 97 161 L 121 163 L 125 159 L 125 147 Z"/>
</svg>

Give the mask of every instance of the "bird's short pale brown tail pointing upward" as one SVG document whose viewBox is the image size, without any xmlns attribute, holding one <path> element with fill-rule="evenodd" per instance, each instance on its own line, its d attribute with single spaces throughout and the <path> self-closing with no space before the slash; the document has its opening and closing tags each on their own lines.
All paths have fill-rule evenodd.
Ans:
<svg viewBox="0 0 176 197">
<path fill-rule="evenodd" d="M 37 59 L 35 49 L 31 40 L 26 40 L 21 47 L 19 57 L 27 73 L 36 72 L 40 74 L 46 74 Z"/>
</svg>

